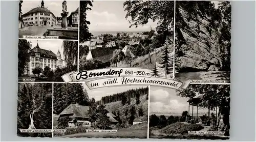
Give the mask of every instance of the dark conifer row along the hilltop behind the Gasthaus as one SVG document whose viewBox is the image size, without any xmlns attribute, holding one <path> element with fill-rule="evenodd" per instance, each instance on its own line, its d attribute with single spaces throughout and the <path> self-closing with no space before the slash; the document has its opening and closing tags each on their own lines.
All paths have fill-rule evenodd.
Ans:
<svg viewBox="0 0 256 142">
<path fill-rule="evenodd" d="M 122 101 L 122 104 L 124 105 L 127 102 L 127 100 L 129 101 L 131 98 L 136 98 L 137 102 L 139 102 L 139 97 L 145 94 L 148 94 L 148 87 L 131 89 L 122 93 L 117 93 L 110 96 L 104 96 L 101 98 L 101 100 L 96 101 L 96 104 L 99 105 L 99 104 L 107 104 L 111 102 Z"/>
</svg>

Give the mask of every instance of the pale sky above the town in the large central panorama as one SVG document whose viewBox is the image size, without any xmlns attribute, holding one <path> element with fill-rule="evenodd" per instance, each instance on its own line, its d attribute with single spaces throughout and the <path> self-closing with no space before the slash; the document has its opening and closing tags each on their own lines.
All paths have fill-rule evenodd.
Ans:
<svg viewBox="0 0 256 142">
<path fill-rule="evenodd" d="M 125 1 L 94 1 L 91 11 L 87 11 L 87 20 L 91 22 L 89 31 L 150 31 L 155 30 L 157 22 L 148 21 L 144 26 L 131 27 L 125 19 L 123 8 Z"/>
</svg>

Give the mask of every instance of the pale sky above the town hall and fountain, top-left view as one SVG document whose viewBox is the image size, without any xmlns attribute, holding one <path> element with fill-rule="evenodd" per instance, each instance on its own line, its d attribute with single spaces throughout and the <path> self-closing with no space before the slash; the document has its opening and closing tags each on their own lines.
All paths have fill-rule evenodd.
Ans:
<svg viewBox="0 0 256 142">
<path fill-rule="evenodd" d="M 61 17 L 63 1 L 44 1 L 45 8 L 50 10 L 56 17 Z M 69 14 L 78 8 L 79 1 L 67 1 L 67 11 Z M 22 13 L 25 14 L 31 9 L 41 7 L 41 1 L 23 1 Z"/>
</svg>

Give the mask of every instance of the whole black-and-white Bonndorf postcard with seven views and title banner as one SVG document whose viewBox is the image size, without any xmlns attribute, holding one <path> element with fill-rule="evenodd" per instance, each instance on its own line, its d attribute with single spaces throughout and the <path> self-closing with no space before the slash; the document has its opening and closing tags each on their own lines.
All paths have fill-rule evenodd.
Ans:
<svg viewBox="0 0 256 142">
<path fill-rule="evenodd" d="M 17 3 L 18 136 L 229 139 L 231 2 Z"/>
</svg>

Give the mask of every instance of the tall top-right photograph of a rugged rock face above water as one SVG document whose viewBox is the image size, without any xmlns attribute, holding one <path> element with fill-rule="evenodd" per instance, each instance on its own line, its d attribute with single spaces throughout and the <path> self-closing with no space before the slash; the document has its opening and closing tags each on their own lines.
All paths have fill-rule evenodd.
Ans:
<svg viewBox="0 0 256 142">
<path fill-rule="evenodd" d="M 175 76 L 230 82 L 231 1 L 177 1 Z"/>
</svg>

